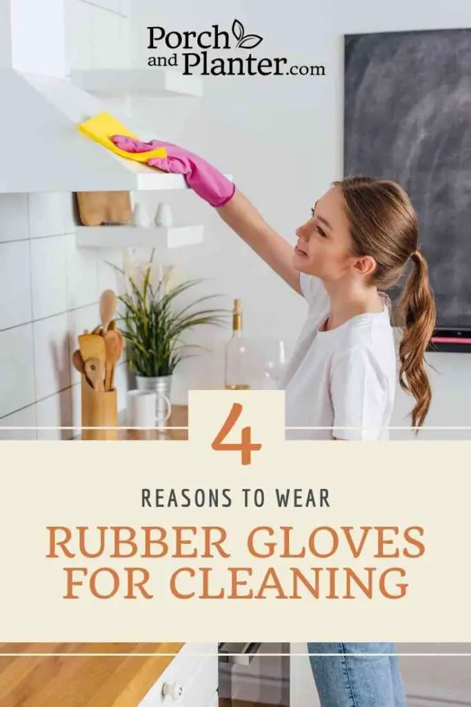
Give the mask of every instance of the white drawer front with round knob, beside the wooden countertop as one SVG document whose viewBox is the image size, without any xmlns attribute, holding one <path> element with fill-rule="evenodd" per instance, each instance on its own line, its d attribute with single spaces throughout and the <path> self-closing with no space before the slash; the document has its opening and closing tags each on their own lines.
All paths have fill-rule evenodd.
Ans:
<svg viewBox="0 0 471 707">
<path fill-rule="evenodd" d="M 205 707 L 217 687 L 217 643 L 185 643 L 138 707 Z M 179 699 L 164 696 L 164 685 L 179 685 Z"/>
</svg>

